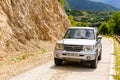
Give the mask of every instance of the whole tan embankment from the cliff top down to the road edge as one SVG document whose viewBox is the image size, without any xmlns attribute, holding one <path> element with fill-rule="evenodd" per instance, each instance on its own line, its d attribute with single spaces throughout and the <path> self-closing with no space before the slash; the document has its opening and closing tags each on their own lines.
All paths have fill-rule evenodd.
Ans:
<svg viewBox="0 0 120 80">
<path fill-rule="evenodd" d="M 0 80 L 51 58 L 69 26 L 57 0 L 0 0 Z"/>
</svg>

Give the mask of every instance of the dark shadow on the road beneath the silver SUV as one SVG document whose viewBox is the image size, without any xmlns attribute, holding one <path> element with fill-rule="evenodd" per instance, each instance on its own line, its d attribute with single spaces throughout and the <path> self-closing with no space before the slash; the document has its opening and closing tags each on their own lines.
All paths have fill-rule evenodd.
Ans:
<svg viewBox="0 0 120 80">
<path fill-rule="evenodd" d="M 72 71 L 72 72 L 92 72 L 95 69 L 90 68 L 88 63 L 78 63 L 78 62 L 65 62 L 60 66 L 51 66 L 51 69 L 55 70 L 64 70 L 64 71 Z"/>
</svg>

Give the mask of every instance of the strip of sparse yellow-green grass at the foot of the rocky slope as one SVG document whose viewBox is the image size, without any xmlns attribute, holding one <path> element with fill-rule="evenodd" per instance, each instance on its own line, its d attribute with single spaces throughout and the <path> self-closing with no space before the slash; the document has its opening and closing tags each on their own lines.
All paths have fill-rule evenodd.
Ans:
<svg viewBox="0 0 120 80">
<path fill-rule="evenodd" d="M 44 48 L 42 48 L 42 49 L 40 49 L 40 51 L 37 52 L 37 53 L 23 53 L 23 54 L 21 54 L 21 55 L 19 55 L 19 56 L 13 57 L 12 59 L 10 59 L 10 61 L 19 62 L 19 61 L 21 61 L 21 60 L 24 60 L 24 59 L 29 58 L 30 56 L 45 54 L 46 52 L 47 52 L 47 51 L 46 51 Z"/>
</svg>

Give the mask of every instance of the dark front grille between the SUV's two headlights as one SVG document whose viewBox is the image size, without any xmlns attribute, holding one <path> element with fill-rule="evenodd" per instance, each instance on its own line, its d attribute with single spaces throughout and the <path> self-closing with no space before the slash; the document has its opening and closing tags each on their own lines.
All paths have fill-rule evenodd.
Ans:
<svg viewBox="0 0 120 80">
<path fill-rule="evenodd" d="M 64 45 L 66 51 L 80 52 L 83 49 L 82 45 Z"/>
</svg>

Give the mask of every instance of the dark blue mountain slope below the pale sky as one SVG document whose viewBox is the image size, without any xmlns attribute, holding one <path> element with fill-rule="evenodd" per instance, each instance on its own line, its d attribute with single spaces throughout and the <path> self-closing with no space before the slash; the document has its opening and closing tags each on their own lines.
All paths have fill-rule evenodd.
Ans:
<svg viewBox="0 0 120 80">
<path fill-rule="evenodd" d="M 69 5 L 74 10 L 91 10 L 91 11 L 116 11 L 117 8 L 102 3 L 90 0 L 67 0 Z"/>
</svg>

